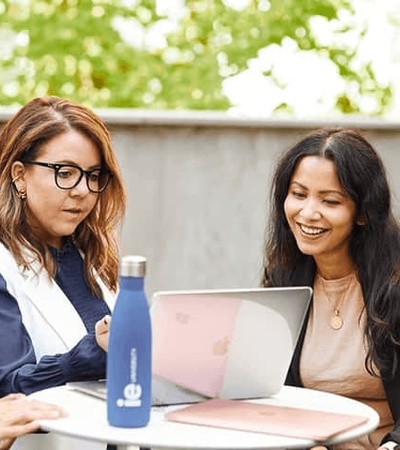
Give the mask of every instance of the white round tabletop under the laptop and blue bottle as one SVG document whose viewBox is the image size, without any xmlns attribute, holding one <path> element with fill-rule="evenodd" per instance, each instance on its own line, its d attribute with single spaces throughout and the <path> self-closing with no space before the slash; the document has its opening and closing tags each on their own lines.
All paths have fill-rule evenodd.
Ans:
<svg viewBox="0 0 400 450">
<path fill-rule="evenodd" d="M 71 390 L 66 386 L 36 392 L 32 397 L 63 406 L 68 417 L 40 422 L 43 430 L 67 436 L 116 444 L 174 449 L 271 449 L 312 447 L 309 439 L 274 436 L 222 428 L 180 424 L 164 418 L 166 410 L 177 407 L 154 407 L 150 422 L 143 428 L 116 428 L 108 425 L 106 402 Z M 276 396 L 257 400 L 259 403 L 345 412 L 368 417 L 368 421 L 337 435 L 327 444 L 353 440 L 373 431 L 379 424 L 375 410 L 363 403 L 320 391 L 285 386 Z"/>
</svg>

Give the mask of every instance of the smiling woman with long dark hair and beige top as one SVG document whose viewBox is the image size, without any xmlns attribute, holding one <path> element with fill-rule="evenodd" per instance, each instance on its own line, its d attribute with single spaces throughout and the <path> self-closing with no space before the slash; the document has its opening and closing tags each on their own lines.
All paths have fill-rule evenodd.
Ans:
<svg viewBox="0 0 400 450">
<path fill-rule="evenodd" d="M 376 431 L 340 449 L 400 443 L 400 230 L 390 199 L 382 161 L 356 130 L 305 136 L 273 179 L 262 284 L 313 288 L 287 383 L 380 415 Z"/>
</svg>

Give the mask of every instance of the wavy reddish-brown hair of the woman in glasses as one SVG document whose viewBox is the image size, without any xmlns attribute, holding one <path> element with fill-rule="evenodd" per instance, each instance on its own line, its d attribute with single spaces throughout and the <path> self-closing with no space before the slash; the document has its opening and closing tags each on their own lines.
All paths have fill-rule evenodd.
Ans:
<svg viewBox="0 0 400 450">
<path fill-rule="evenodd" d="M 126 193 L 110 133 L 89 108 L 58 97 L 35 98 L 6 123 L 0 133 L 0 241 L 18 264 L 28 267 L 31 262 L 28 254 L 33 254 L 40 266 L 50 276 L 55 276 L 54 257 L 27 222 L 26 203 L 17 196 L 11 168 L 15 161 L 33 160 L 44 143 L 71 129 L 82 133 L 96 146 L 102 168 L 112 173 L 109 185 L 98 194 L 93 210 L 72 236 L 85 254 L 85 276 L 89 287 L 101 298 L 96 276 L 112 291 L 118 286 L 116 229 L 125 214 Z"/>
</svg>

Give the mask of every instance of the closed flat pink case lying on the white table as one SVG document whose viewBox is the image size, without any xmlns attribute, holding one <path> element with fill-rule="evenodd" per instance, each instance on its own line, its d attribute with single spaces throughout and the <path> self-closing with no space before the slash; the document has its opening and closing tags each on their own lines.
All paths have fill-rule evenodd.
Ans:
<svg viewBox="0 0 400 450">
<path fill-rule="evenodd" d="M 212 399 L 165 414 L 168 420 L 257 433 L 327 441 L 368 421 L 367 417 Z"/>
</svg>

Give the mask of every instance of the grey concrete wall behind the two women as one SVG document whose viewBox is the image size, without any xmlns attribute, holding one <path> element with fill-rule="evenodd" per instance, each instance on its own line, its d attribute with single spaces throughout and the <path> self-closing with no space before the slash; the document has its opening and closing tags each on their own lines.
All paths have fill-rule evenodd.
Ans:
<svg viewBox="0 0 400 450">
<path fill-rule="evenodd" d="M 13 110 L 0 109 L 0 126 Z M 123 254 L 148 258 L 147 290 L 256 287 L 280 152 L 323 125 L 354 126 L 385 161 L 400 216 L 400 125 L 246 120 L 219 113 L 98 110 L 129 192 Z"/>
</svg>

